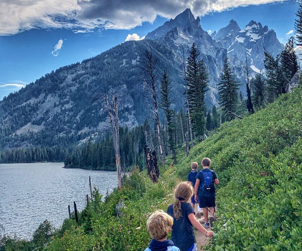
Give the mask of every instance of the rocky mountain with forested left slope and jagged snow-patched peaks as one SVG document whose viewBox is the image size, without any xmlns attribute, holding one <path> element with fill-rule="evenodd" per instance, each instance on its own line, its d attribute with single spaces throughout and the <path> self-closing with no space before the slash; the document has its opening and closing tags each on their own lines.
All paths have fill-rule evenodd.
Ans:
<svg viewBox="0 0 302 251">
<path fill-rule="evenodd" d="M 105 90 L 109 97 L 112 93 L 118 97 L 121 126 L 142 124 L 149 111 L 138 66 L 149 46 L 158 58 L 158 81 L 167 69 L 173 106 L 176 110 L 183 108 L 182 54 L 188 57 L 193 42 L 210 73 L 206 95 L 209 107 L 218 104 L 216 85 L 226 55 L 237 80 L 245 86 L 245 53 L 255 73 L 263 68 L 261 45 L 272 55 L 284 48 L 273 30 L 254 21 L 241 30 L 231 20 L 211 37 L 201 28 L 199 17 L 194 18 L 186 9 L 144 40 L 124 42 L 94 58 L 61 67 L 10 94 L 0 102 L 0 147 L 67 146 L 106 132 L 109 125 L 104 104 L 92 99 Z"/>
</svg>

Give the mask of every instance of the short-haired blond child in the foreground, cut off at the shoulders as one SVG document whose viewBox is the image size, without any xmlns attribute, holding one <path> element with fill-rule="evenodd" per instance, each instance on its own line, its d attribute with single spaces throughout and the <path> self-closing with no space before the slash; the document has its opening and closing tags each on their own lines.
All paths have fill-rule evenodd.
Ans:
<svg viewBox="0 0 302 251">
<path fill-rule="evenodd" d="M 173 218 L 162 210 L 156 210 L 147 220 L 147 229 L 152 240 L 145 251 L 179 251 L 172 240 L 167 239 Z"/>
</svg>

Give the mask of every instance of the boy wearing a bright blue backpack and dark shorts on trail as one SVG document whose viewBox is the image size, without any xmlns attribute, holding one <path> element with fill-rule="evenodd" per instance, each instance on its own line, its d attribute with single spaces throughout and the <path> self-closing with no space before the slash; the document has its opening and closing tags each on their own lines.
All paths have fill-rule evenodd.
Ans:
<svg viewBox="0 0 302 251">
<path fill-rule="evenodd" d="M 214 222 L 214 210 L 215 210 L 215 186 L 219 185 L 217 175 L 213 170 L 210 170 L 211 160 L 209 158 L 203 158 L 201 161 L 203 170 L 199 171 L 196 175 L 196 183 L 194 187 L 195 201 L 199 199 L 199 207 L 202 208 L 204 213 L 204 226 L 209 228 L 213 227 Z M 208 211 L 210 217 L 208 217 Z M 210 223 L 209 223 L 210 221 Z"/>
</svg>

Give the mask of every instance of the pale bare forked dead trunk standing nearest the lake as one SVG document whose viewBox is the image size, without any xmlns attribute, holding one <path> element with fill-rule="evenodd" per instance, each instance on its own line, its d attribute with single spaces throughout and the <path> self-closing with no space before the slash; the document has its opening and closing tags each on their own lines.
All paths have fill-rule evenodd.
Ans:
<svg viewBox="0 0 302 251">
<path fill-rule="evenodd" d="M 112 94 L 112 105 L 113 105 L 112 114 L 111 114 L 111 109 L 110 109 L 106 92 L 105 92 L 105 99 L 106 99 L 106 104 L 109 114 L 109 120 L 112 125 L 112 136 L 113 136 L 113 143 L 114 143 L 115 163 L 117 169 L 118 189 L 120 189 L 122 187 L 122 167 L 120 165 L 120 137 L 118 131 L 117 97 L 114 97 L 114 94 Z"/>
</svg>

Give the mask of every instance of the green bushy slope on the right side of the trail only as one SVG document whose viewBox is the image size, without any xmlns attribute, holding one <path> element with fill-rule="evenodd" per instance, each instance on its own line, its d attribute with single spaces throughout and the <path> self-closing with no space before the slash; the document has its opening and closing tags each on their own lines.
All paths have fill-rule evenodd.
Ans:
<svg viewBox="0 0 302 251">
<path fill-rule="evenodd" d="M 281 96 L 243 120 L 223 124 L 182 157 L 212 160 L 221 188 L 211 250 L 301 250 L 302 92 Z"/>
</svg>

